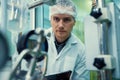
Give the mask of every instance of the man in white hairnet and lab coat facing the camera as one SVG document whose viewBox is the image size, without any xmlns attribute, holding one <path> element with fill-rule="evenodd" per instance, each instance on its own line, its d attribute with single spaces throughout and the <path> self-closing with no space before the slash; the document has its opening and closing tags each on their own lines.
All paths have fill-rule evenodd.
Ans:
<svg viewBox="0 0 120 80">
<path fill-rule="evenodd" d="M 89 80 L 83 43 L 71 33 L 76 7 L 70 0 L 58 0 L 50 7 L 52 29 L 48 40 L 46 76 L 72 71 L 70 80 Z"/>
</svg>

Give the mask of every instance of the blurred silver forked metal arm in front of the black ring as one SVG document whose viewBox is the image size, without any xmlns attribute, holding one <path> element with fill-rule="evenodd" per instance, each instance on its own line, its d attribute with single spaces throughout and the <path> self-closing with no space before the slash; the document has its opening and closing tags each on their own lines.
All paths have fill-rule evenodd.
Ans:
<svg viewBox="0 0 120 80">
<path fill-rule="evenodd" d="M 27 74 L 25 76 L 25 80 L 36 80 L 36 78 L 34 78 L 34 71 L 35 71 L 35 68 L 36 68 L 36 63 L 38 61 L 38 57 L 41 57 L 41 56 L 46 56 L 46 52 L 42 50 L 42 45 L 45 41 L 45 33 L 44 33 L 44 30 L 40 30 L 38 32 L 36 31 L 31 31 L 28 33 L 29 36 L 28 37 L 31 37 L 33 34 L 37 35 L 37 44 L 35 45 L 35 47 L 33 49 L 23 49 L 13 67 L 13 70 L 11 71 L 10 75 L 9 75 L 9 78 L 8 80 L 12 80 L 12 79 L 15 79 L 15 75 L 17 74 L 17 69 L 18 67 L 20 66 L 20 63 L 21 63 L 21 60 L 28 54 L 28 55 L 31 55 L 32 58 L 31 61 L 30 61 L 30 66 L 29 66 L 29 70 L 27 71 Z M 27 38 L 28 39 L 28 38 Z M 24 40 L 23 40 L 24 41 Z M 21 42 L 22 43 L 22 42 Z M 46 56 L 47 57 L 47 56 Z M 44 73 L 41 73 L 39 74 L 39 79 L 37 80 L 42 80 L 44 76 Z"/>
</svg>

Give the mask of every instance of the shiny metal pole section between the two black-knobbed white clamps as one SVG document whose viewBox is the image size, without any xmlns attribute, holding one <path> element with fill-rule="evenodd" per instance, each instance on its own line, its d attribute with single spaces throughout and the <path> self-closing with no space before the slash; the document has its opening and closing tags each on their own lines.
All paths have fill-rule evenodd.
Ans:
<svg viewBox="0 0 120 80">
<path fill-rule="evenodd" d="M 100 54 L 108 54 L 108 25 L 97 23 Z"/>
</svg>

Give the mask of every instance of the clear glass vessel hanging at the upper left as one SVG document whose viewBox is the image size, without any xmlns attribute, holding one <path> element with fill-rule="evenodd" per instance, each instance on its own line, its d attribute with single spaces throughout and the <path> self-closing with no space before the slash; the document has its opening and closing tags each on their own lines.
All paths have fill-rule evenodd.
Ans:
<svg viewBox="0 0 120 80">
<path fill-rule="evenodd" d="M 23 32 L 26 28 L 29 30 L 29 15 L 27 0 L 10 0 L 8 3 L 8 30 L 11 32 Z"/>
</svg>

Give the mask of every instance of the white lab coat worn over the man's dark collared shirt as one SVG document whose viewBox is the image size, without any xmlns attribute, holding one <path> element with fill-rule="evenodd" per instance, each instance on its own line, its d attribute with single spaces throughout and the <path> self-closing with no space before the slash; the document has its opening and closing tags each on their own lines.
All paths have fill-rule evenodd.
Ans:
<svg viewBox="0 0 120 80">
<path fill-rule="evenodd" d="M 86 69 L 85 48 L 83 43 L 73 34 L 66 45 L 57 53 L 54 34 L 47 38 L 49 44 L 48 64 L 46 75 L 72 71 L 70 80 L 89 80 L 89 72 Z"/>
</svg>

